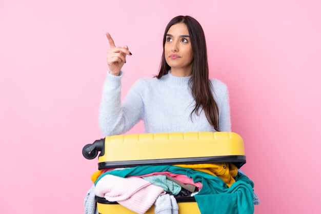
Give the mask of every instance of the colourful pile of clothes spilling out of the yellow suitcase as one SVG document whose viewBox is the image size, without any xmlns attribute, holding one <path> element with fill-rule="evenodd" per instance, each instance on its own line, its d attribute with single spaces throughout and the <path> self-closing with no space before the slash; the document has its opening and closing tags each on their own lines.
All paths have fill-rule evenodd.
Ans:
<svg viewBox="0 0 321 214">
<path fill-rule="evenodd" d="M 155 214 L 177 214 L 176 199 L 182 197 L 194 197 L 202 214 L 253 213 L 259 204 L 253 182 L 232 163 L 102 169 L 92 175 L 92 181 L 85 198 L 87 214 L 95 213 L 94 196 L 138 214 L 152 205 Z"/>
</svg>

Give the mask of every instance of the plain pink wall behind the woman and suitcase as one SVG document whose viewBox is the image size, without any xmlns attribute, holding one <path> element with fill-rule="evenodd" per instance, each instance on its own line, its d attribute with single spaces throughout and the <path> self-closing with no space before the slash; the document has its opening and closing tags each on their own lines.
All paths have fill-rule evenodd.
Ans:
<svg viewBox="0 0 321 214">
<path fill-rule="evenodd" d="M 82 148 L 103 137 L 105 32 L 133 53 L 126 94 L 157 73 L 165 26 L 179 14 L 202 24 L 210 75 L 229 86 L 255 213 L 320 213 L 320 9 L 318 0 L 2 0 L 0 213 L 83 213 L 97 159 Z"/>
</svg>

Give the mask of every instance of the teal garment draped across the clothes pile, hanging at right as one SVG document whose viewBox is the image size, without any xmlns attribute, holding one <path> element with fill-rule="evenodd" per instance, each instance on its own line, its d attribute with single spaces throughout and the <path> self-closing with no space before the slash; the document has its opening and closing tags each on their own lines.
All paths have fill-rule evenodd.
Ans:
<svg viewBox="0 0 321 214">
<path fill-rule="evenodd" d="M 125 178 L 129 176 L 142 176 L 153 172 L 165 171 L 175 174 L 185 174 L 187 177 L 192 178 L 194 182 L 202 183 L 202 189 L 200 189 L 194 196 L 202 214 L 222 213 L 223 208 L 220 207 L 225 206 L 227 208 L 231 205 L 232 201 L 235 209 L 224 209 L 224 213 L 250 214 L 254 212 L 254 183 L 242 173 L 237 173 L 235 182 L 229 188 L 222 179 L 190 168 L 171 165 L 137 166 L 123 170 L 112 170 L 106 172 L 98 178 L 96 184 L 108 174 Z"/>
</svg>

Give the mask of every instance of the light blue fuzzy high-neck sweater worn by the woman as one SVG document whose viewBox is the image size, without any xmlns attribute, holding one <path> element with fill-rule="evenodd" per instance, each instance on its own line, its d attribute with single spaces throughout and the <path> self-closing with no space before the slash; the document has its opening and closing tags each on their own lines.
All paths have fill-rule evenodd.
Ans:
<svg viewBox="0 0 321 214">
<path fill-rule="evenodd" d="M 99 128 L 104 136 L 124 134 L 143 120 L 146 133 L 215 131 L 204 111 L 190 118 L 195 101 L 188 85 L 190 77 L 173 76 L 138 80 L 121 102 L 121 79 L 107 73 L 101 106 Z M 231 131 L 229 93 L 227 86 L 211 80 L 213 96 L 219 110 L 220 131 Z"/>
</svg>

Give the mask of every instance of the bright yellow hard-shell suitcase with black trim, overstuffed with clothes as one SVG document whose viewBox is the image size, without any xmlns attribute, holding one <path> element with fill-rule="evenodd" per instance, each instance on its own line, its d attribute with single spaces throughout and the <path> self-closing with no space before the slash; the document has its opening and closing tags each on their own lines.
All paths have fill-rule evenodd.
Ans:
<svg viewBox="0 0 321 214">
<path fill-rule="evenodd" d="M 99 151 L 98 169 L 226 162 L 240 168 L 246 163 L 243 139 L 234 132 L 113 135 L 85 145 L 83 155 L 94 159 Z M 194 197 L 176 200 L 179 214 L 200 213 Z M 96 197 L 96 202 L 101 214 L 135 213 L 105 198 Z M 154 213 L 154 207 L 146 213 Z"/>
</svg>

